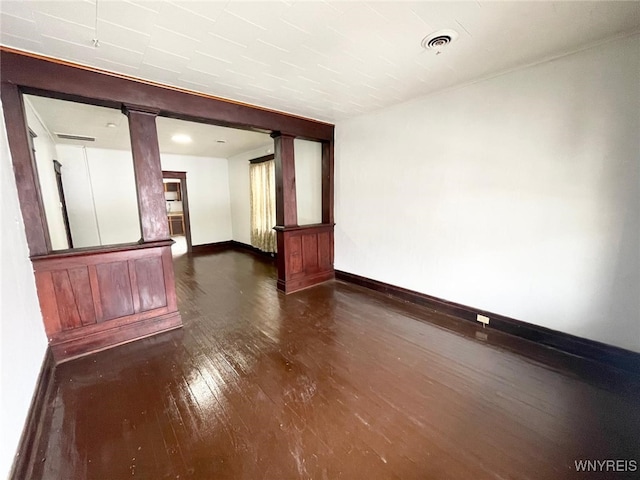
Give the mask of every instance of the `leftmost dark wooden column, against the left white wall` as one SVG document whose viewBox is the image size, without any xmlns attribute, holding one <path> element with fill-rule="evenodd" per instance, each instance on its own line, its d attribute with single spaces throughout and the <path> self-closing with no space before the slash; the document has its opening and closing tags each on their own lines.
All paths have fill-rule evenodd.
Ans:
<svg viewBox="0 0 640 480">
<path fill-rule="evenodd" d="M 38 170 L 29 146 L 29 131 L 22 94 L 16 85 L 6 82 L 3 82 L 0 88 L 29 254 L 44 255 L 51 249 L 51 240 L 40 193 Z"/>
</svg>

